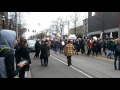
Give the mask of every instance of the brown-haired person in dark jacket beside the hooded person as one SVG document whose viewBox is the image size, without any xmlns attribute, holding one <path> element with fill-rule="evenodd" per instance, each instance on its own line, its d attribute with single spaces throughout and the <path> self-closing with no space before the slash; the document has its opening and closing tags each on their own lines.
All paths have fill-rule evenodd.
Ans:
<svg viewBox="0 0 120 90">
<path fill-rule="evenodd" d="M 25 59 L 28 61 L 28 64 L 25 65 L 19 73 L 19 78 L 25 78 L 25 72 L 29 71 L 30 65 L 31 65 L 31 59 L 30 59 L 30 51 L 28 49 L 28 47 L 25 45 L 26 44 L 26 40 L 21 37 L 20 38 L 20 48 L 19 48 L 19 53 L 20 53 L 20 60 L 21 59 Z"/>
</svg>

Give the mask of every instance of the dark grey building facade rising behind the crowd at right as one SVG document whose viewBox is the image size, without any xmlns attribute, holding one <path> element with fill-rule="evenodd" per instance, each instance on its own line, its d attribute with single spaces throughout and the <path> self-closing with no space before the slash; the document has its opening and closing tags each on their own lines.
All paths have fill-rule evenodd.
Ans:
<svg viewBox="0 0 120 90">
<path fill-rule="evenodd" d="M 119 12 L 96 12 L 94 16 L 88 17 L 88 35 L 100 37 L 104 33 L 105 37 L 110 37 L 112 33 L 113 38 L 118 38 L 119 24 Z"/>
</svg>

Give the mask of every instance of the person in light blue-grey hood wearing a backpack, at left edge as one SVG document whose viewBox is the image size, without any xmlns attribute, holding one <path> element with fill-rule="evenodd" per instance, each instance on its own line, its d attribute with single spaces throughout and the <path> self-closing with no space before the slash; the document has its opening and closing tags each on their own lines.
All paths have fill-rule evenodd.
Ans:
<svg viewBox="0 0 120 90">
<path fill-rule="evenodd" d="M 15 39 L 15 31 L 0 31 L 0 78 L 14 78 L 25 65 L 20 62 L 18 63 L 18 68 L 15 70 Z"/>
</svg>

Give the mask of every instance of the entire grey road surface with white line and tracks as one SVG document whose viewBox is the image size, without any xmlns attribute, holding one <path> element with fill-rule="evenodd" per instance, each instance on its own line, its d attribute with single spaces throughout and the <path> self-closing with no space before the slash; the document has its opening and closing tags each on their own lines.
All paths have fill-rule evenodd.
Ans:
<svg viewBox="0 0 120 90">
<path fill-rule="evenodd" d="M 32 59 L 32 78 L 120 78 L 120 71 L 114 70 L 113 60 L 85 55 L 73 55 L 72 66 L 67 66 L 63 54 L 51 51 L 48 67 L 40 65 L 40 60 Z"/>
</svg>

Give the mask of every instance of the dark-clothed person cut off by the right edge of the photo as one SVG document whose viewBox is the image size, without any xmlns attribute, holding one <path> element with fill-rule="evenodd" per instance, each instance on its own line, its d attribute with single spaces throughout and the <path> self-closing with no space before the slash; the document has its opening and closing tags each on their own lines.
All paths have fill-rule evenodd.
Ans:
<svg viewBox="0 0 120 90">
<path fill-rule="evenodd" d="M 117 40 L 117 44 L 115 45 L 115 61 L 114 61 L 114 68 L 117 70 L 117 59 L 119 61 L 118 63 L 118 69 L 120 70 L 120 39 Z"/>
</svg>

